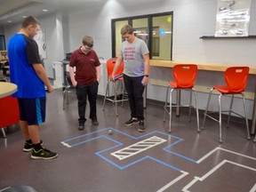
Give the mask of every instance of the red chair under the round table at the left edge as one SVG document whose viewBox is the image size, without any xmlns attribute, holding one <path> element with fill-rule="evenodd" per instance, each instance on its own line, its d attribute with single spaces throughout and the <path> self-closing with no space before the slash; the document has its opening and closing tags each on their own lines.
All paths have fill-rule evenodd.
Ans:
<svg viewBox="0 0 256 192">
<path fill-rule="evenodd" d="M 12 98 L 11 95 L 1 98 L 0 99 L 0 128 L 2 128 L 4 138 L 6 138 L 4 128 L 12 124 L 18 124 L 19 120 L 20 120 L 20 112 L 19 112 L 18 100 L 16 98 Z"/>
</svg>

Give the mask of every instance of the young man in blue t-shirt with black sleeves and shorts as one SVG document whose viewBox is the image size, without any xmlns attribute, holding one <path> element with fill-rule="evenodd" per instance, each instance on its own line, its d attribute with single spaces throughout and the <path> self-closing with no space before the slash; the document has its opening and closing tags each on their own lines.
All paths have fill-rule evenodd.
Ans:
<svg viewBox="0 0 256 192">
<path fill-rule="evenodd" d="M 52 159 L 58 154 L 42 147 L 39 134 L 39 124 L 45 121 L 44 85 L 48 92 L 54 91 L 33 39 L 39 29 L 39 21 L 32 16 L 27 17 L 20 31 L 10 38 L 7 47 L 11 82 L 18 85 L 18 91 L 12 96 L 19 102 L 20 129 L 26 140 L 23 151 L 32 150 L 33 159 Z"/>
</svg>

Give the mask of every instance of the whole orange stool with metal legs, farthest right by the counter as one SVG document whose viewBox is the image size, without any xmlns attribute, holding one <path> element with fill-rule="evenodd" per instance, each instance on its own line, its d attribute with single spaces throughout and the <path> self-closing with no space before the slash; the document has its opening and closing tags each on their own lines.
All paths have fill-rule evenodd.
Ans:
<svg viewBox="0 0 256 192">
<path fill-rule="evenodd" d="M 234 95 L 236 95 L 236 94 L 240 94 L 243 97 L 244 116 L 245 116 L 245 123 L 246 123 L 246 128 L 247 128 L 247 136 L 248 136 L 248 140 L 250 140 L 247 110 L 246 110 L 246 104 L 245 104 L 245 97 L 244 97 L 244 93 L 243 93 L 244 90 L 245 90 L 246 84 L 247 84 L 248 75 L 249 75 L 249 68 L 248 67 L 227 68 L 226 71 L 225 71 L 225 74 L 224 74 L 225 81 L 226 81 L 227 85 L 226 86 L 217 86 L 217 85 L 215 85 L 215 86 L 212 87 L 212 89 L 209 93 L 209 97 L 208 97 L 208 101 L 207 101 L 207 107 L 206 107 L 205 112 L 204 112 L 204 121 L 203 121 L 202 129 L 204 129 L 204 122 L 205 122 L 206 116 L 210 117 L 212 120 L 214 120 L 216 122 L 219 122 L 219 124 L 220 124 L 220 142 L 222 142 L 221 113 L 228 112 L 228 124 L 229 124 L 231 113 L 234 113 L 237 116 L 241 116 L 240 114 L 237 114 L 236 112 L 232 111 Z M 216 118 L 208 115 L 210 113 L 216 113 L 217 112 L 217 111 L 208 111 L 213 90 L 217 90 L 218 92 L 220 92 L 220 95 L 219 95 L 219 111 L 218 111 L 219 112 L 219 119 L 216 119 Z M 230 102 L 230 107 L 226 111 L 224 111 L 224 110 L 221 111 L 221 97 L 226 96 L 226 95 L 232 95 L 231 102 Z M 244 117 L 244 116 L 241 116 L 241 117 Z M 227 127 L 228 127 L 228 124 L 227 124 Z"/>
</svg>

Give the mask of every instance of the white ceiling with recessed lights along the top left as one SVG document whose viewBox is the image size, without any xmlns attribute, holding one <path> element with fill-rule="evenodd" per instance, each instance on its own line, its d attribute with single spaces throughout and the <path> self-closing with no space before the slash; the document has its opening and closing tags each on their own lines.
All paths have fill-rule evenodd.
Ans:
<svg viewBox="0 0 256 192">
<path fill-rule="evenodd" d="M 92 11 L 93 8 L 106 4 L 107 1 L 118 1 L 118 3 L 125 6 L 159 0 L 0 0 L 0 27 L 10 25 L 8 20 L 15 23 L 23 20 L 23 16 L 40 17 L 44 14 L 78 6 L 84 6 L 84 11 L 86 9 Z M 48 12 L 43 12 L 43 9 L 47 9 Z"/>
</svg>

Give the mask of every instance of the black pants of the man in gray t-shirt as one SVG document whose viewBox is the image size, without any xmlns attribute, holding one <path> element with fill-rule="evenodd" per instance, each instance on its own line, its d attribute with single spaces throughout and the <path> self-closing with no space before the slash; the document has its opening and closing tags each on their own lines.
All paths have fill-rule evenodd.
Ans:
<svg viewBox="0 0 256 192">
<path fill-rule="evenodd" d="M 142 95 L 145 86 L 141 83 L 143 77 L 144 76 L 132 77 L 124 75 L 124 86 L 128 93 L 131 117 L 137 117 L 138 120 L 144 120 Z"/>
</svg>

